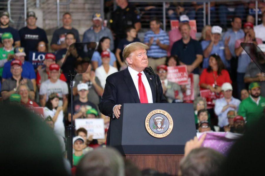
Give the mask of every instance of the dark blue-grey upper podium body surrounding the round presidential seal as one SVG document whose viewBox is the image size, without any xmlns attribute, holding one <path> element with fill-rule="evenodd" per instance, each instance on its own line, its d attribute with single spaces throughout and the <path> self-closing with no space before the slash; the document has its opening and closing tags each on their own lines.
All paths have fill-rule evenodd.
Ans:
<svg viewBox="0 0 265 176">
<path fill-rule="evenodd" d="M 168 136 L 156 138 L 145 128 L 146 116 L 153 110 L 166 111 L 173 120 Z M 119 119 L 111 122 L 110 145 L 122 154 L 183 154 L 187 141 L 196 136 L 193 104 L 123 104 Z"/>
</svg>

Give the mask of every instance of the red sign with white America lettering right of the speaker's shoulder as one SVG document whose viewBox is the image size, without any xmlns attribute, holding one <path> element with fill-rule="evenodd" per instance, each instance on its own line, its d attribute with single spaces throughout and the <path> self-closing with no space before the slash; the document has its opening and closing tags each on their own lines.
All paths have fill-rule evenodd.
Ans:
<svg viewBox="0 0 265 176">
<path fill-rule="evenodd" d="M 188 84 L 189 80 L 188 80 L 187 66 L 179 65 L 179 66 L 168 67 L 167 79 L 169 82 L 175 82 L 179 85 Z"/>
</svg>

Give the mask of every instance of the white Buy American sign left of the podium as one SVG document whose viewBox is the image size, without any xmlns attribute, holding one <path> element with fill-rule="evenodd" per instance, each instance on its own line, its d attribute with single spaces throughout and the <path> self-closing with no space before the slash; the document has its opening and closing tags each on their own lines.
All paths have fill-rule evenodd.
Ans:
<svg viewBox="0 0 265 176">
<path fill-rule="evenodd" d="M 75 119 L 75 129 L 85 128 L 87 136 L 93 139 L 105 139 L 104 119 Z"/>
</svg>

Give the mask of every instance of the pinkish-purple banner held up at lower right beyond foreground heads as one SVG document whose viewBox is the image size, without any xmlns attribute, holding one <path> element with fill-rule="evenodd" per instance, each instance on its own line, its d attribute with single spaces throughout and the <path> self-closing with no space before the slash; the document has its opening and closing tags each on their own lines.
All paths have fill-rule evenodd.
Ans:
<svg viewBox="0 0 265 176">
<path fill-rule="evenodd" d="M 197 133 L 197 137 L 202 134 Z M 231 132 L 208 132 L 201 146 L 212 148 L 226 156 L 230 148 L 241 136 L 242 134 Z"/>
</svg>

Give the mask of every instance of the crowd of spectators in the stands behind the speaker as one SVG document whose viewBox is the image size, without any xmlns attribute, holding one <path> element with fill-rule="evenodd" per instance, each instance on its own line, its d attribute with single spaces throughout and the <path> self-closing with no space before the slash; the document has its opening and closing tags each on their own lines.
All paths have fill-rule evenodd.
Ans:
<svg viewBox="0 0 265 176">
<path fill-rule="evenodd" d="M 97 49 L 86 72 L 74 78 L 73 120 L 103 118 L 107 131 L 109 119 L 99 111 L 100 97 L 106 78 L 127 67 L 122 51 L 133 42 L 148 45 L 148 66 L 160 77 L 167 101 L 193 103 L 197 132 L 244 133 L 261 118 L 265 107 L 265 75 L 240 43 L 254 43 L 265 53 L 265 11 L 258 26 L 249 21 L 242 26 L 243 19 L 239 16 L 233 17 L 232 28 L 225 33 L 221 25 L 204 26 L 200 40 L 196 39 L 196 31 L 191 29 L 185 14 L 179 16 L 179 27 L 168 33 L 161 29 L 158 18 L 152 18 L 150 30 L 141 41 L 138 11 L 127 0 L 117 0 L 117 6 L 110 19 L 110 29 L 103 26 L 102 14 L 95 13 L 93 25 L 82 37 L 82 42 L 97 42 Z M 1 14 L 1 98 L 27 108 L 44 107 L 44 119 L 65 150 L 65 126 L 71 122 L 71 108 L 68 70 L 62 66 L 70 45 L 81 41 L 80 35 L 72 27 L 71 14 L 64 13 L 63 26 L 54 31 L 49 49 L 46 32 L 36 26 L 37 16 L 33 11 L 27 13 L 26 21 L 27 26 L 17 31 L 9 26 L 9 13 Z M 33 67 L 31 52 L 45 53 L 42 65 Z M 180 65 L 186 65 L 187 74 L 193 78 L 194 97 L 189 100 L 184 99 L 189 85 L 179 85 L 167 78 L 168 68 Z M 213 97 L 203 97 L 201 92 L 205 90 Z M 76 131 L 74 165 L 79 160 L 88 160 L 81 158 L 93 148 L 105 146 L 105 139 L 87 135 L 85 128 Z"/>
</svg>

